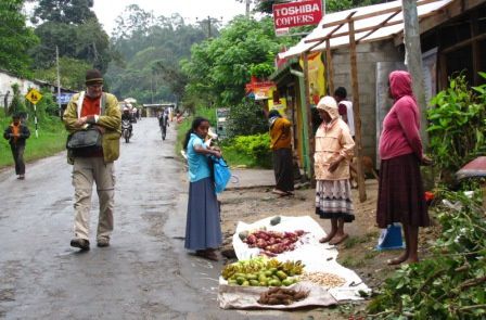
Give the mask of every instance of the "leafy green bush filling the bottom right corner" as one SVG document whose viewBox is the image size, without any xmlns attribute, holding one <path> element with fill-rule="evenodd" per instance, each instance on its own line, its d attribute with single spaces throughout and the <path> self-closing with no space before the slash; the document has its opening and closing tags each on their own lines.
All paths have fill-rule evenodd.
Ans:
<svg viewBox="0 0 486 320">
<path fill-rule="evenodd" d="M 484 319 L 486 219 L 481 192 L 443 191 L 435 207 L 442 235 L 432 255 L 387 279 L 370 304 L 375 319 Z"/>
</svg>

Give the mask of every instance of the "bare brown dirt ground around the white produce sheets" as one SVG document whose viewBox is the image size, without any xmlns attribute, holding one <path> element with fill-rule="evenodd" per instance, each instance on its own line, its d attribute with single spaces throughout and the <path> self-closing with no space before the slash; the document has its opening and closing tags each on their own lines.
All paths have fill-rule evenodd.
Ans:
<svg viewBox="0 0 486 320">
<path fill-rule="evenodd" d="M 296 190 L 295 196 L 279 197 L 270 188 L 253 188 L 225 191 L 221 201 L 223 251 L 232 249 L 231 236 L 239 221 L 252 223 L 269 216 L 310 216 L 329 232 L 328 220 L 315 214 L 315 190 Z M 355 270 L 368 286 L 375 290 L 397 268 L 388 267 L 386 260 L 399 251 L 378 252 L 380 229 L 375 226 L 378 181 L 367 180 L 367 201 L 359 202 L 358 191 L 353 191 L 356 220 L 345 226 L 349 238 L 337 246 L 338 263 Z M 232 261 L 232 259 L 229 259 Z M 334 309 L 312 309 L 306 316 L 315 319 L 348 319 L 357 310 L 366 308 L 367 302 L 340 306 Z M 302 316 L 302 313 L 300 313 Z M 331 317 L 331 318 L 329 318 Z"/>
</svg>

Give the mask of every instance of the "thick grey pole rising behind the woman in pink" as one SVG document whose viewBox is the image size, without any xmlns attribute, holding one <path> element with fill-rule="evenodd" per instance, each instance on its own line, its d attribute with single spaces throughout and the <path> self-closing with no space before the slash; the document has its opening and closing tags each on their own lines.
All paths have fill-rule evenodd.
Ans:
<svg viewBox="0 0 486 320">
<path fill-rule="evenodd" d="M 404 41 L 407 68 L 412 77 L 413 94 L 421 110 L 420 137 L 424 150 L 429 146 L 427 135 L 427 104 L 425 101 L 425 82 L 423 79 L 422 49 L 420 47 L 419 16 L 415 0 L 402 0 L 404 10 Z"/>
</svg>

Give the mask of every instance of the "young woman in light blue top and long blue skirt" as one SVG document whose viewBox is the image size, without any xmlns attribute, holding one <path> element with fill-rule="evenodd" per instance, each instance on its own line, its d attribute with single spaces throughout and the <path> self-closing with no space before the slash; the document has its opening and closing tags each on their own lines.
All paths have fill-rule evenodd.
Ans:
<svg viewBox="0 0 486 320">
<path fill-rule="evenodd" d="M 197 256 L 217 261 L 216 248 L 221 245 L 222 235 L 208 156 L 219 158 L 221 153 L 204 143 L 208 130 L 209 121 L 196 117 L 183 142 L 190 180 L 184 247 L 195 251 Z"/>
</svg>

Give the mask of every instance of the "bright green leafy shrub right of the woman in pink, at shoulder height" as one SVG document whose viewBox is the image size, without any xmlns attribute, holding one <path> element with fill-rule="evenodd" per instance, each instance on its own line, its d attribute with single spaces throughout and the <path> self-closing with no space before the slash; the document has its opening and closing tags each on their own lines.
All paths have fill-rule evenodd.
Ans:
<svg viewBox="0 0 486 320">
<path fill-rule="evenodd" d="M 481 73 L 486 78 L 486 73 Z M 465 77 L 452 78 L 449 88 L 432 99 L 429 110 L 430 151 L 442 177 L 486 154 L 486 85 L 469 88 Z"/>
</svg>

